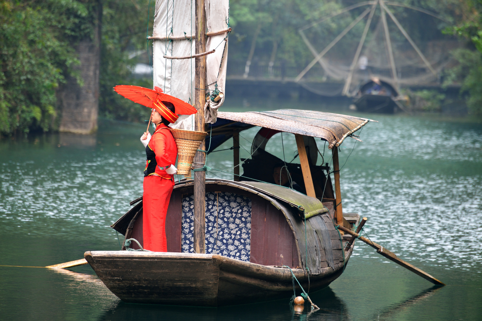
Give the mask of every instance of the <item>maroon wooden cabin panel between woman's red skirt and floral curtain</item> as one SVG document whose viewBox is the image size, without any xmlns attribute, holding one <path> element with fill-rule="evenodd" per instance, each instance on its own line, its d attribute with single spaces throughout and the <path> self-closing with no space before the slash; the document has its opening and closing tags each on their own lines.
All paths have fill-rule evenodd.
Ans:
<svg viewBox="0 0 482 321">
<path fill-rule="evenodd" d="M 181 221 L 181 193 L 174 191 L 171 194 L 171 200 L 169 201 L 169 207 L 166 215 L 167 252 L 181 253 Z"/>
</svg>

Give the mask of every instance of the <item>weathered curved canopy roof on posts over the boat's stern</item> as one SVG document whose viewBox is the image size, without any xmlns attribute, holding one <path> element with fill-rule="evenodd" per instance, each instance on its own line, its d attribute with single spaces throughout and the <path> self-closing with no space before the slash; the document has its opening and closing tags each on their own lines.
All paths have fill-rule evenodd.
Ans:
<svg viewBox="0 0 482 321">
<path fill-rule="evenodd" d="M 245 113 L 218 112 L 216 123 L 207 131 L 212 130 L 213 142 L 216 141 L 212 146 L 219 145 L 215 136 L 230 137 L 229 132 L 260 126 L 293 134 L 319 137 L 328 141 L 328 148 L 331 149 L 340 145 L 345 138 L 362 128 L 368 121 L 369 119 L 360 117 L 298 109 Z M 210 151 L 214 148 L 212 147 Z"/>
</svg>

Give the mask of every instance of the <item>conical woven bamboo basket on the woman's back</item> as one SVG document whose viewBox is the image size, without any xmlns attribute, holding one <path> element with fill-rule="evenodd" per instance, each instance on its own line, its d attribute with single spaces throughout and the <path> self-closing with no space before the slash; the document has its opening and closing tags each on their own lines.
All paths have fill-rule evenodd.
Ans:
<svg viewBox="0 0 482 321">
<path fill-rule="evenodd" d="M 189 175 L 191 174 L 194 154 L 196 154 L 199 145 L 208 133 L 176 128 L 171 128 L 171 133 L 173 133 L 177 145 L 177 174 Z"/>
</svg>

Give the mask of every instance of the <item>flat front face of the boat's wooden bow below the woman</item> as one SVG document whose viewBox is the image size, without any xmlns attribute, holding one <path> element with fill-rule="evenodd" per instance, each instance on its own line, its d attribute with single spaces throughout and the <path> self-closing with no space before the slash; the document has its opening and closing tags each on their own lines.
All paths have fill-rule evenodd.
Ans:
<svg viewBox="0 0 482 321">
<path fill-rule="evenodd" d="M 107 288 L 122 301 L 172 305 L 217 305 L 219 268 L 212 256 L 184 253 L 86 252 Z M 132 254 L 135 253 L 135 254 Z"/>
</svg>

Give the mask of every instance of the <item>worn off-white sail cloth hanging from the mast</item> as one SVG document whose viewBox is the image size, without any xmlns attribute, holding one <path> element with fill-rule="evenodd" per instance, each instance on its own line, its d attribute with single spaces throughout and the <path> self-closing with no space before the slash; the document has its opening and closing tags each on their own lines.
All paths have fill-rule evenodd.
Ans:
<svg viewBox="0 0 482 321">
<path fill-rule="evenodd" d="M 206 0 L 205 7 L 207 32 L 229 27 L 229 0 Z M 153 40 L 154 86 L 192 105 L 195 104 L 195 59 L 168 59 L 163 56 L 185 57 L 196 53 L 196 39 L 190 38 L 195 35 L 195 22 L 195 0 L 156 0 L 153 37 L 186 37 Z M 214 53 L 206 56 L 206 89 L 213 92 L 217 88 L 224 93 L 217 103 L 209 100 L 205 105 L 206 123 L 216 122 L 217 109 L 226 97 L 227 36 L 227 33 L 211 36 L 206 43 L 206 51 L 215 49 Z M 194 118 L 180 116 L 172 127 L 193 130 Z"/>
</svg>

